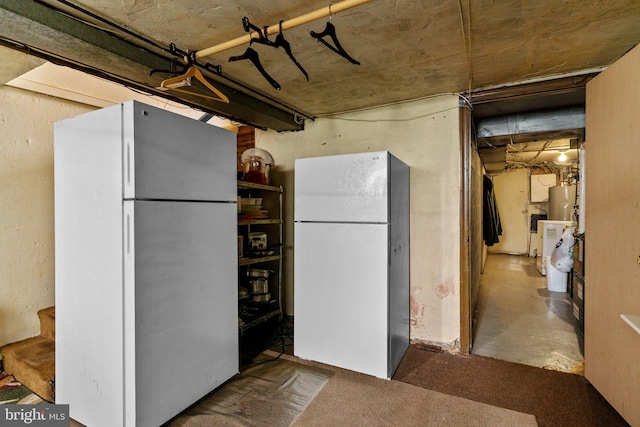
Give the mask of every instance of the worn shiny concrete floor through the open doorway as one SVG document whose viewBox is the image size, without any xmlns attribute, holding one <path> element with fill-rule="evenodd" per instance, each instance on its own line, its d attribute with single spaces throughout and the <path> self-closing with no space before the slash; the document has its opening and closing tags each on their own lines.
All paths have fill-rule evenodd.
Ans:
<svg viewBox="0 0 640 427">
<path fill-rule="evenodd" d="M 535 258 L 488 256 L 473 328 L 473 354 L 583 374 L 570 295 L 547 290 Z"/>
</svg>

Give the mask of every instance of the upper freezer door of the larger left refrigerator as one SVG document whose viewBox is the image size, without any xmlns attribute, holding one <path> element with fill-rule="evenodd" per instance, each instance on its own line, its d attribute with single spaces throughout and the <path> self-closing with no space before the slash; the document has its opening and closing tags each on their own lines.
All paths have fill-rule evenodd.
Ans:
<svg viewBox="0 0 640 427">
<path fill-rule="evenodd" d="M 236 200 L 235 133 L 122 104 L 125 199 Z"/>
</svg>

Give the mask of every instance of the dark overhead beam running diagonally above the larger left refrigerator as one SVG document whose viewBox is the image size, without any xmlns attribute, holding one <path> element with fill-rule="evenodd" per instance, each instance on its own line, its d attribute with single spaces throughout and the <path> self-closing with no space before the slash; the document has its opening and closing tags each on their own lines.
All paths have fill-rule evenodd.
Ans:
<svg viewBox="0 0 640 427">
<path fill-rule="evenodd" d="M 203 71 L 227 97 L 229 104 L 199 96 L 157 90 L 167 74 L 150 75 L 151 70 L 172 68 L 170 55 L 136 45 L 83 21 L 34 1 L 0 0 L 0 39 L 5 46 L 20 49 L 153 95 L 181 100 L 205 112 L 221 115 L 256 127 L 295 131 L 304 127 L 296 113 L 277 101 L 247 93 L 239 85 Z M 157 50 L 157 49 L 156 49 Z M 190 90 L 206 91 L 192 86 Z"/>
</svg>

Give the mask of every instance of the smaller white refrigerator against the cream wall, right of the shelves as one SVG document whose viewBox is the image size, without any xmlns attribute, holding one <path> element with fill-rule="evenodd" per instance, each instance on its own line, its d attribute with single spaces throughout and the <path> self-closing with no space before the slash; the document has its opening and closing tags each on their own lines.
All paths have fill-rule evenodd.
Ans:
<svg viewBox="0 0 640 427">
<path fill-rule="evenodd" d="M 409 167 L 380 151 L 294 173 L 294 354 L 391 378 L 409 345 Z"/>
</svg>

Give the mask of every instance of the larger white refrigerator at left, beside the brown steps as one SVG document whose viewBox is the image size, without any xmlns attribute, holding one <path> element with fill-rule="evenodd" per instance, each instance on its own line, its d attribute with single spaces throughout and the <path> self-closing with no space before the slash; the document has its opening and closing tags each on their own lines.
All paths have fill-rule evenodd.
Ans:
<svg viewBox="0 0 640 427">
<path fill-rule="evenodd" d="M 56 403 L 161 425 L 238 372 L 235 134 L 138 102 L 54 130 Z"/>
</svg>

